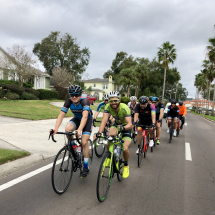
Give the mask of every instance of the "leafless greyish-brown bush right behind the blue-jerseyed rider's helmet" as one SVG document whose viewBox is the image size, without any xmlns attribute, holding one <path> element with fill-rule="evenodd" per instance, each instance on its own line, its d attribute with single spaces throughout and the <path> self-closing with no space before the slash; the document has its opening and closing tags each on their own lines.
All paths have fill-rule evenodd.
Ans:
<svg viewBox="0 0 215 215">
<path fill-rule="evenodd" d="M 52 70 L 52 78 L 55 85 L 72 85 L 74 82 L 73 75 L 66 68 L 54 67 Z"/>
</svg>

